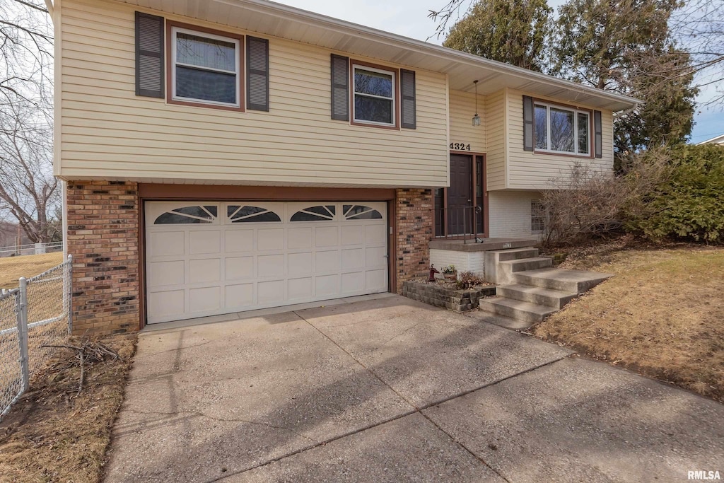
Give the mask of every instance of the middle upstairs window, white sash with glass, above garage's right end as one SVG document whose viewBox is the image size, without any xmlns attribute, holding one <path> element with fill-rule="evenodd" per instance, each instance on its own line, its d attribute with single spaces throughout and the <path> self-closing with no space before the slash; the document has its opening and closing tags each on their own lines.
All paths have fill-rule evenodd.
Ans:
<svg viewBox="0 0 724 483">
<path fill-rule="evenodd" d="M 395 72 L 353 65 L 355 122 L 395 126 Z"/>
</svg>

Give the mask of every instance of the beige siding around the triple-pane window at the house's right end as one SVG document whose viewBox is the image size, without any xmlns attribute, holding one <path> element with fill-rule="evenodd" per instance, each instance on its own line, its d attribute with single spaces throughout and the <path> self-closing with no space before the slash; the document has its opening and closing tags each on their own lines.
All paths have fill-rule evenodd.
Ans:
<svg viewBox="0 0 724 483">
<path fill-rule="evenodd" d="M 520 91 L 507 90 L 508 104 L 508 188 L 539 190 L 550 187 L 552 178 L 568 175 L 571 165 L 580 161 L 597 172 L 609 174 L 613 171 L 613 113 L 602 111 L 602 147 L 600 159 L 579 156 L 556 156 L 523 150 L 523 95 Z M 540 97 L 536 97 L 540 98 Z M 559 104 L 568 104 L 561 99 L 545 99 Z M 585 105 L 571 106 L 590 109 Z M 593 131 L 591 132 L 593 136 Z"/>
</svg>

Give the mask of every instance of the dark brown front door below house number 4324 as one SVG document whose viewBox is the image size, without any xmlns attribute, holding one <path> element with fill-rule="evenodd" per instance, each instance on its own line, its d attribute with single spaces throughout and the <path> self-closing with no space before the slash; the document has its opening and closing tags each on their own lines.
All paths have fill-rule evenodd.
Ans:
<svg viewBox="0 0 724 483">
<path fill-rule="evenodd" d="M 450 188 L 447 190 L 447 235 L 473 232 L 473 156 L 450 154 Z"/>
</svg>

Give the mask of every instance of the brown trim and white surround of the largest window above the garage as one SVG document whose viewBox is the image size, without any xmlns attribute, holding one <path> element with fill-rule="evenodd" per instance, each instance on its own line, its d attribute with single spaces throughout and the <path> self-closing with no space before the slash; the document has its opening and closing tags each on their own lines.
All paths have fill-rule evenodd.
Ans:
<svg viewBox="0 0 724 483">
<path fill-rule="evenodd" d="M 235 43 L 237 49 L 236 62 L 236 96 L 237 103 L 229 104 L 218 101 L 205 101 L 203 99 L 193 99 L 175 96 L 176 92 L 176 32 L 189 33 L 199 37 L 212 38 L 224 42 Z M 245 106 L 245 38 L 244 35 L 222 32 L 220 30 L 212 30 L 210 28 L 199 27 L 198 25 L 190 25 L 173 20 L 166 20 L 166 51 L 167 51 L 167 86 L 166 101 L 168 104 L 180 104 L 183 106 L 201 106 L 211 109 L 225 109 L 230 111 L 244 112 Z M 209 71 L 215 69 L 209 67 Z M 231 72 L 218 70 L 218 72 Z"/>
</svg>

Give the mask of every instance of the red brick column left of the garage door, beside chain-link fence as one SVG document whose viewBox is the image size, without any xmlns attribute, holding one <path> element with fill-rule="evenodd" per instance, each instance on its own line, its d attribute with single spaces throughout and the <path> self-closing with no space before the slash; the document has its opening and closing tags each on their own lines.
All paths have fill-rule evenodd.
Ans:
<svg viewBox="0 0 724 483">
<path fill-rule="evenodd" d="M 73 333 L 138 330 L 138 184 L 71 181 L 67 201 Z"/>
</svg>

